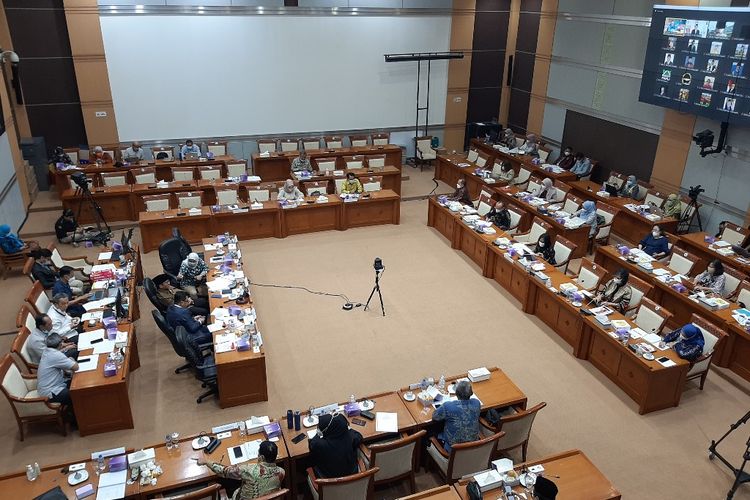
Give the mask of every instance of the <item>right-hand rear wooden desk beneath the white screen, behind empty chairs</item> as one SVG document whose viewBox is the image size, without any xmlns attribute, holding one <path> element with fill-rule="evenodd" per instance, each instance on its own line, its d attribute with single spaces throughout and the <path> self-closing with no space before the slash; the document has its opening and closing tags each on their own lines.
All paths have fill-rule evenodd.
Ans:
<svg viewBox="0 0 750 500">
<path fill-rule="evenodd" d="M 385 164 L 401 170 L 401 147 L 394 144 L 385 146 L 363 146 L 356 148 L 312 149 L 307 152 L 310 160 L 317 158 L 336 158 L 336 167 L 346 168 L 344 156 L 385 155 Z M 267 181 L 283 181 L 289 177 L 292 160 L 299 156 L 298 151 L 271 153 L 268 156 L 254 153 L 252 156 L 253 172 Z"/>
</svg>

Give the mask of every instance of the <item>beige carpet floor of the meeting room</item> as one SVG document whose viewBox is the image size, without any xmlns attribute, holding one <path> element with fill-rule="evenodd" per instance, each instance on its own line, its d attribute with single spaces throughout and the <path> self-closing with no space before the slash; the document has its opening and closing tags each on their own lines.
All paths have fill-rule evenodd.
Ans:
<svg viewBox="0 0 750 500">
<path fill-rule="evenodd" d="M 174 374 L 180 360 L 150 320 L 143 295 L 141 368 L 131 379 L 135 429 L 63 438 L 35 428 L 21 443 L 8 405 L 1 404 L 0 439 L 6 444 L 0 473 L 33 461 L 56 463 L 96 449 L 154 443 L 170 431 L 194 433 L 250 415 L 278 417 L 288 408 L 365 396 L 426 375 L 484 365 L 508 373 L 530 405 L 548 403 L 534 425 L 530 459 L 578 448 L 626 498 L 724 497 L 732 478 L 708 460 L 706 450 L 711 439 L 748 411 L 750 384 L 714 369 L 704 391 L 688 384 L 678 408 L 638 415 L 620 389 L 590 363 L 574 358 L 553 331 L 483 278 L 472 262 L 426 227 L 426 218 L 426 202 L 412 201 L 402 204 L 399 226 L 242 243 L 254 282 L 344 293 L 358 302 L 372 288 L 374 257 L 386 265 L 381 282 L 386 317 L 377 309 L 342 311 L 343 301 L 334 297 L 255 287 L 268 353 L 265 403 L 226 410 L 214 401 L 195 404 L 200 387 L 190 375 Z M 146 274 L 158 272 L 154 252 L 145 256 L 144 267 Z M 11 277 L 3 287 L 10 300 L 0 303 L 2 331 L 9 331 L 28 280 Z M 9 335 L 0 337 L 0 352 L 7 352 L 10 341 Z M 722 447 L 735 463 L 748 429 L 741 428 Z M 420 488 L 433 484 L 431 475 L 420 475 Z M 394 496 L 394 490 L 378 494 Z M 735 498 L 750 498 L 750 487 L 742 487 Z"/>
</svg>

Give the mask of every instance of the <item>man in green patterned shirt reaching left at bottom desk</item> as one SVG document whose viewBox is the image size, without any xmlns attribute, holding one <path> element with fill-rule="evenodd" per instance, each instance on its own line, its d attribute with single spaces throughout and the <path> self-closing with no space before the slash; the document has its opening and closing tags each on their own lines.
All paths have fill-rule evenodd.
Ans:
<svg viewBox="0 0 750 500">
<path fill-rule="evenodd" d="M 205 465 L 219 477 L 241 481 L 232 495 L 233 500 L 258 498 L 281 488 L 284 469 L 276 465 L 279 448 L 271 441 L 263 441 L 258 447 L 258 461 L 239 465 L 222 465 L 199 458 L 198 465 Z"/>
</svg>

